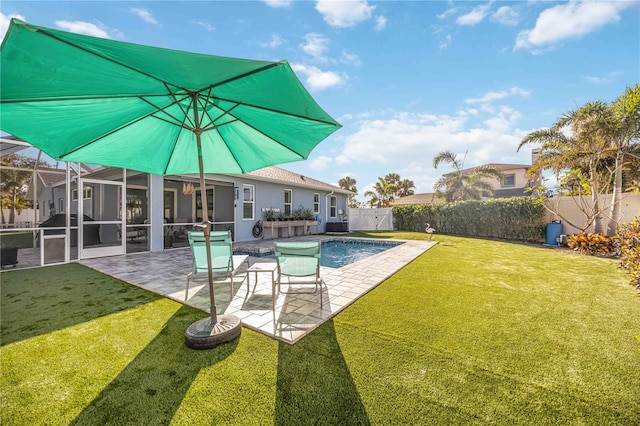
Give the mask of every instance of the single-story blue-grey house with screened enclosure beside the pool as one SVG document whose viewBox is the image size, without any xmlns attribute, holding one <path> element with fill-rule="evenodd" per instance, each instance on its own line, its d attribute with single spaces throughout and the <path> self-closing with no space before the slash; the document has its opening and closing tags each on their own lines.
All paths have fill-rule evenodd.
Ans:
<svg viewBox="0 0 640 426">
<path fill-rule="evenodd" d="M 41 169 L 35 175 L 30 192 L 38 194 L 38 222 L 46 226 L 58 216 L 64 223 L 65 212 L 70 212 L 70 225 L 77 227 L 70 246 L 79 248 L 79 258 L 185 246 L 187 231 L 203 220 L 196 176 L 162 177 L 87 165 L 74 165 L 68 172 Z M 275 166 L 243 175 L 208 174 L 205 180 L 213 229 L 230 230 L 235 241 L 323 233 L 327 223 L 347 220 L 352 194 Z M 268 222 L 268 210 L 286 220 Z M 50 222 L 51 227 L 61 223 Z"/>
</svg>

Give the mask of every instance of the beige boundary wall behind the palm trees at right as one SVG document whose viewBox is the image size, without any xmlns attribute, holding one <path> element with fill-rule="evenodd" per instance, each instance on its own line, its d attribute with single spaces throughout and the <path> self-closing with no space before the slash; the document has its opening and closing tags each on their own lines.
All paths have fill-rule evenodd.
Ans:
<svg viewBox="0 0 640 426">
<path fill-rule="evenodd" d="M 586 203 L 591 203 L 590 197 L 584 197 Z M 609 213 L 611 209 L 611 195 L 602 195 L 599 198 L 600 206 L 605 209 L 605 223 L 609 221 Z M 547 199 L 547 205 L 557 210 L 560 216 L 554 215 L 547 211 L 546 223 L 552 220 L 560 220 L 562 222 L 562 233 L 571 235 L 580 232 L 577 227 L 569 225 L 571 222 L 578 226 L 585 226 L 587 220 L 584 213 L 577 204 L 577 197 L 553 197 Z M 622 220 L 621 223 L 631 222 L 636 216 L 640 216 L 640 194 L 624 193 L 622 194 Z M 584 209 L 583 209 L 584 210 Z M 593 224 L 586 229 L 586 232 L 593 232 Z"/>
</svg>

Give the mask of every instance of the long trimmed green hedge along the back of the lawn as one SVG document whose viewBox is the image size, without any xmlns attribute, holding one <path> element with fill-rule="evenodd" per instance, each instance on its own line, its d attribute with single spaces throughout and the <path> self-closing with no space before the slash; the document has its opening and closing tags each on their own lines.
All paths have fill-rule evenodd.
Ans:
<svg viewBox="0 0 640 426">
<path fill-rule="evenodd" d="M 399 231 L 423 232 L 428 223 L 442 234 L 524 242 L 545 237 L 545 209 L 536 197 L 395 206 L 393 219 Z"/>
</svg>

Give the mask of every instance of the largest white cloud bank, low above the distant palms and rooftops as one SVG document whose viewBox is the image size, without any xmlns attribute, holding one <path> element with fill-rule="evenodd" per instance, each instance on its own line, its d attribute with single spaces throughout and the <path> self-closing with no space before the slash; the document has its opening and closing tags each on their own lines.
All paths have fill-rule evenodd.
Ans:
<svg viewBox="0 0 640 426">
<path fill-rule="evenodd" d="M 465 167 L 487 163 L 530 161 L 530 153 L 517 147 L 527 131 L 518 128 L 519 111 L 498 106 L 493 114 L 467 110 L 455 115 L 393 113 L 358 122 L 345 137 L 336 157 L 338 166 L 367 164 L 368 168 L 400 174 L 416 184 L 416 192 L 432 192 L 433 183 L 450 170 L 433 169 L 433 158 L 447 149 L 464 154 Z M 480 115 L 480 117 L 475 117 Z M 479 121 L 470 122 L 479 118 Z M 370 184 L 360 182 L 360 195 Z M 362 188 L 360 188 L 362 186 Z"/>
</svg>

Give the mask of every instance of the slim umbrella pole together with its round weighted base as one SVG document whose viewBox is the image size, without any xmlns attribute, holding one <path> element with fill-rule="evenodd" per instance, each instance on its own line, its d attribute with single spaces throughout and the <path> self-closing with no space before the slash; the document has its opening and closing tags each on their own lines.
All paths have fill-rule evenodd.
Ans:
<svg viewBox="0 0 640 426">
<path fill-rule="evenodd" d="M 200 135 L 200 118 L 198 117 L 198 93 L 192 93 L 194 129 L 198 146 L 198 167 L 200 169 L 200 197 L 202 200 L 202 228 L 204 230 L 205 246 L 207 250 L 207 272 L 209 275 L 209 302 L 211 304 L 211 316 L 194 322 L 185 332 L 185 343 L 192 349 L 211 349 L 221 343 L 230 342 L 240 336 L 242 322 L 233 315 L 220 315 L 216 313 L 216 299 L 213 287 L 213 270 L 211 268 L 211 221 L 209 221 L 209 209 L 207 206 L 207 187 L 204 180 L 204 166 L 202 160 L 202 144 Z M 231 277 L 233 280 L 233 277 Z M 233 285 L 231 286 L 233 288 Z M 233 294 L 231 294 L 233 297 Z"/>
</svg>

